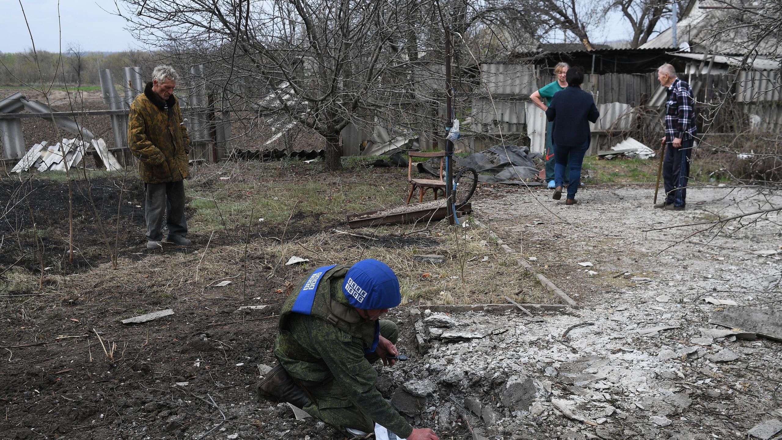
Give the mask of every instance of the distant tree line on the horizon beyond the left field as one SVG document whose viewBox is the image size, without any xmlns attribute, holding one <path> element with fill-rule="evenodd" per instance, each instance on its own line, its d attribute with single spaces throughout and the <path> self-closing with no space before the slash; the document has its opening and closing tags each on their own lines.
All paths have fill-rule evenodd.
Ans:
<svg viewBox="0 0 782 440">
<path fill-rule="evenodd" d="M 56 87 L 100 85 L 99 70 L 112 71 L 114 81 L 123 81 L 122 68 L 138 66 L 142 75 L 149 75 L 157 63 L 167 59 L 164 52 L 77 52 L 69 50 L 62 56 L 57 52 L 38 51 L 38 63 L 44 81 Z M 148 78 L 144 78 L 145 81 Z M 41 85 L 38 67 L 32 50 L 27 52 L 0 52 L 0 85 Z"/>
</svg>

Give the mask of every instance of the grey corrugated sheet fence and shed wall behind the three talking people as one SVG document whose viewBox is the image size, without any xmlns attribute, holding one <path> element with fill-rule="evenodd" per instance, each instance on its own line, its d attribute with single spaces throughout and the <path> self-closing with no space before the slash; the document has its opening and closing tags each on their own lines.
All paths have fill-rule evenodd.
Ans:
<svg viewBox="0 0 782 440">
<path fill-rule="evenodd" d="M 473 99 L 470 116 L 474 124 L 470 128 L 475 139 L 469 143 L 469 149 L 479 151 L 498 143 L 501 128 L 509 139 L 529 136 L 531 150 L 543 152 L 545 114 L 533 105 L 529 95 L 556 78 L 536 76 L 531 65 L 484 64 L 481 72 L 482 81 L 492 92 L 493 105 L 488 97 Z M 683 79 L 690 81 L 695 92 L 699 132 L 705 132 L 706 128 L 712 133 L 780 132 L 782 129 L 779 70 L 741 71 L 736 81 L 725 74 L 692 75 Z M 582 88 L 594 96 L 601 113 L 597 123 L 590 124 L 591 153 L 619 142 L 633 129 L 655 130 L 661 122 L 665 89 L 660 86 L 656 72 L 589 74 Z M 717 106 L 718 103 L 723 105 Z"/>
</svg>

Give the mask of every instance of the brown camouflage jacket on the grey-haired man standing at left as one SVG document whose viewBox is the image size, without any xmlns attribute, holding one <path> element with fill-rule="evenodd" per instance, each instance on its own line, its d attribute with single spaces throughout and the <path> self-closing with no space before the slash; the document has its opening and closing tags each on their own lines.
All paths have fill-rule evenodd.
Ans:
<svg viewBox="0 0 782 440">
<path fill-rule="evenodd" d="M 138 157 L 138 175 L 145 183 L 179 182 L 188 176 L 190 136 L 174 95 L 166 101 L 148 83 L 131 103 L 127 143 Z"/>
</svg>

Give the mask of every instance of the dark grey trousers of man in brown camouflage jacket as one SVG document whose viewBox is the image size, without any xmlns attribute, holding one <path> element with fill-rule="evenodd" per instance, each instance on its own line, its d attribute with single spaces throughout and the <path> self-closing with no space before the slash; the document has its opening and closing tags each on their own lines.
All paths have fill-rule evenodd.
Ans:
<svg viewBox="0 0 782 440">
<path fill-rule="evenodd" d="M 185 183 L 181 180 L 169 183 L 145 183 L 144 188 L 147 238 L 160 241 L 164 213 L 170 235 L 188 235 L 188 224 L 185 221 Z"/>
</svg>

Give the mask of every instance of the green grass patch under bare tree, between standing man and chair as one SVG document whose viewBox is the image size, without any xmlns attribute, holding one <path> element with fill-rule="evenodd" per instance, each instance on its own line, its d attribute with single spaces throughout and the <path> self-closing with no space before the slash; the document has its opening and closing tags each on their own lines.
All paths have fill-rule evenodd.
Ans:
<svg viewBox="0 0 782 440">
<path fill-rule="evenodd" d="M 253 225 L 299 228 L 344 222 L 351 212 L 404 204 L 407 170 L 373 168 L 376 160 L 351 157 L 336 173 L 322 164 L 295 161 L 242 162 L 192 169 L 185 181 L 191 222 L 204 232 Z M 217 171 L 217 169 L 224 171 Z M 253 218 L 249 218 L 250 214 Z M 263 221 L 260 221 L 263 218 Z"/>
</svg>

